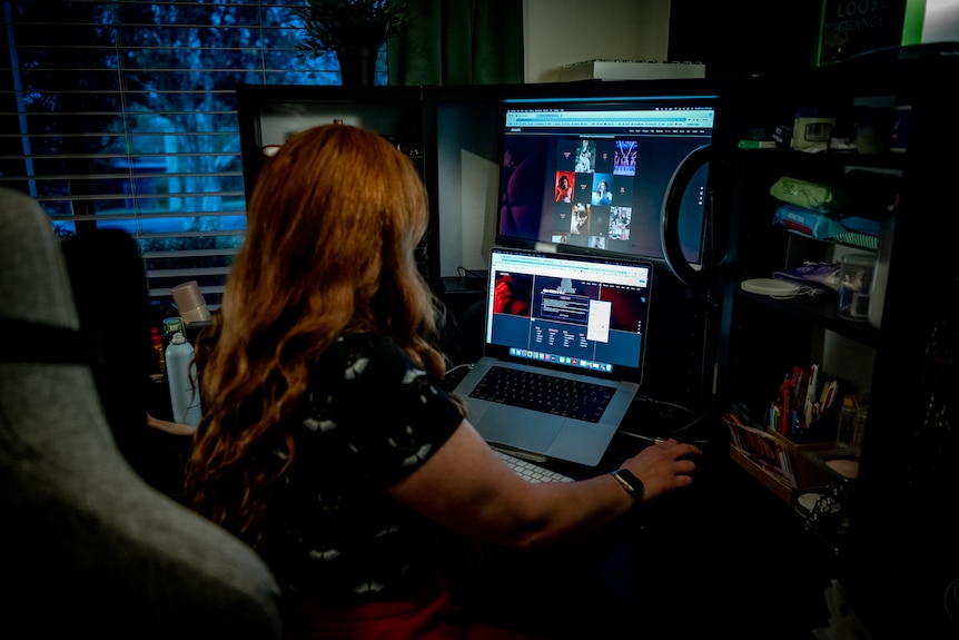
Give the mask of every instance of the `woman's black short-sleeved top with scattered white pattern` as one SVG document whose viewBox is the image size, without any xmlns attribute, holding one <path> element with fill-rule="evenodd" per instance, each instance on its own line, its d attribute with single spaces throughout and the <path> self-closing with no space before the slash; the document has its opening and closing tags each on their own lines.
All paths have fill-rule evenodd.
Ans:
<svg viewBox="0 0 959 640">
<path fill-rule="evenodd" d="M 441 382 L 392 339 L 352 335 L 327 349 L 290 421 L 295 465 L 278 483 L 258 548 L 284 589 L 354 603 L 429 580 L 441 530 L 386 489 L 461 420 Z"/>
</svg>

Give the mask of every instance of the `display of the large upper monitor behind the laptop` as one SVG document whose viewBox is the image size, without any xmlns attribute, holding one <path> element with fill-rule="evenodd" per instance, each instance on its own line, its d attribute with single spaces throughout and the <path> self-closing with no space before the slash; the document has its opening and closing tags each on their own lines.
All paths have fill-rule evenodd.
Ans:
<svg viewBox="0 0 959 640">
<path fill-rule="evenodd" d="M 712 140 L 715 97 L 507 104 L 497 243 L 663 258 L 673 173 Z M 680 242 L 701 262 L 708 168 L 682 198 Z M 524 244 L 525 243 L 525 244 Z"/>
</svg>

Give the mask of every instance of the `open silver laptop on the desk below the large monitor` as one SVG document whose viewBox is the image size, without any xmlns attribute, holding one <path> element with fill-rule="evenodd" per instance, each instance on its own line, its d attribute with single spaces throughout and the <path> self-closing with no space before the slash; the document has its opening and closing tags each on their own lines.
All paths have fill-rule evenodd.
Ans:
<svg viewBox="0 0 959 640">
<path fill-rule="evenodd" d="M 652 276 L 644 260 L 493 247 L 484 355 L 455 388 L 480 434 L 506 451 L 597 465 L 642 382 Z M 535 383 L 503 382 L 530 374 L 553 376 L 544 387 L 560 397 L 533 408 Z M 571 383 L 591 393 L 565 406 Z"/>
</svg>

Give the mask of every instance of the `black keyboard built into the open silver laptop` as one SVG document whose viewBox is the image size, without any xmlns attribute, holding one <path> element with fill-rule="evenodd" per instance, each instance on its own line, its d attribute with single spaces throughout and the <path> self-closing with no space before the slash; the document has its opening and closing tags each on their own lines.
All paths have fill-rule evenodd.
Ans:
<svg viewBox="0 0 959 640">
<path fill-rule="evenodd" d="M 614 391 L 603 384 L 493 366 L 469 395 L 563 417 L 600 422 Z"/>
</svg>

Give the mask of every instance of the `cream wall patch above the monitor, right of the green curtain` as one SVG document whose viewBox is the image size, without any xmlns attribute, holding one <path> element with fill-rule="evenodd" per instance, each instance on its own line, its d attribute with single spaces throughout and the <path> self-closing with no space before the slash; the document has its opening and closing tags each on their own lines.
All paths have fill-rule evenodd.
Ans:
<svg viewBox="0 0 959 640">
<path fill-rule="evenodd" d="M 668 60 L 671 0 L 523 0 L 526 82 L 584 60 Z M 671 60 L 681 61 L 681 60 Z"/>
</svg>

